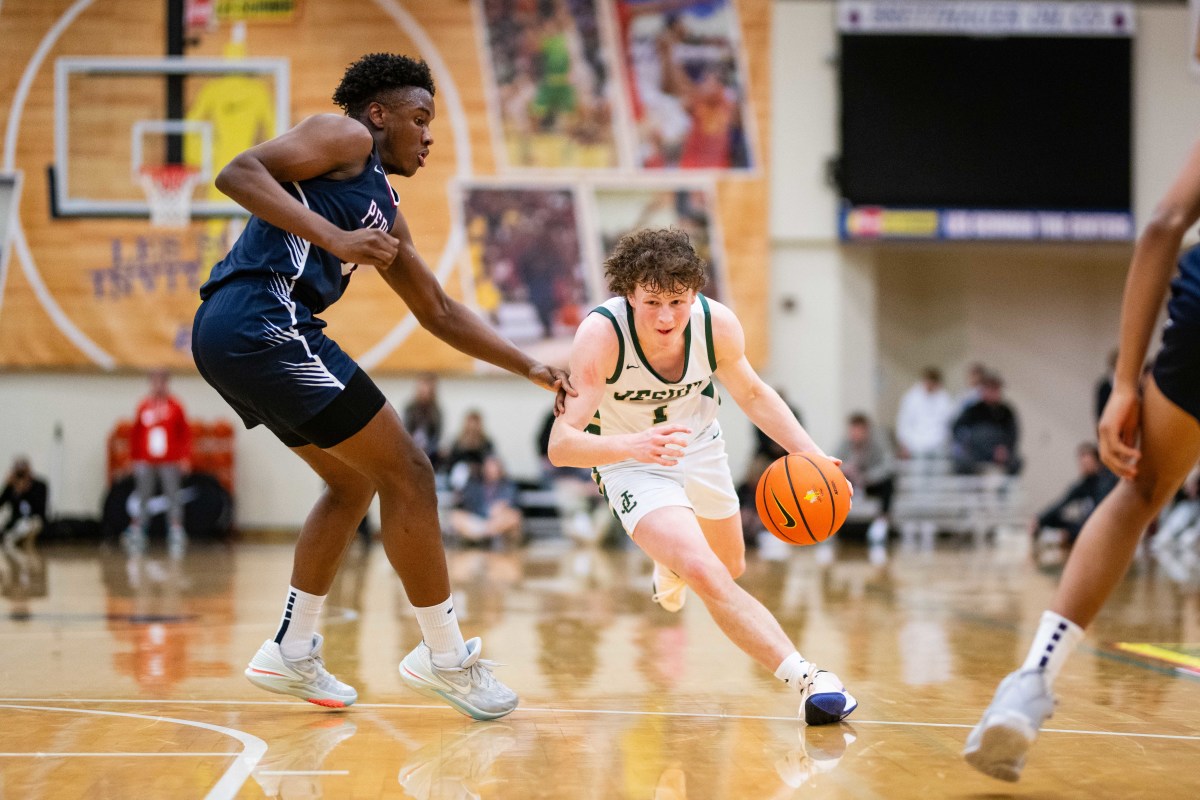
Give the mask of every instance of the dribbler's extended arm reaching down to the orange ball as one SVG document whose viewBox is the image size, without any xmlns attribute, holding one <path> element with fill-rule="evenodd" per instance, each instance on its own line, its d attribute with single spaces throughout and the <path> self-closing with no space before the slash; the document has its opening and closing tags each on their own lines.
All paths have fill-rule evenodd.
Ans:
<svg viewBox="0 0 1200 800">
<path fill-rule="evenodd" d="M 792 409 L 774 389 L 758 377 L 745 354 L 742 323 L 726 306 L 708 301 L 713 317 L 713 349 L 716 354 L 716 379 L 745 411 L 750 421 L 787 452 L 816 452 L 824 456 Z"/>
</svg>

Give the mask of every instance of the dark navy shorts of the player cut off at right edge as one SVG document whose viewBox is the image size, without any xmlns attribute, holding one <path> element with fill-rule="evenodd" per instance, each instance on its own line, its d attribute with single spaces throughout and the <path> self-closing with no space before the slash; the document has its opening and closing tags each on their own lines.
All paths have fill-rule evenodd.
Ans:
<svg viewBox="0 0 1200 800">
<path fill-rule="evenodd" d="M 1200 421 L 1200 249 L 1180 259 L 1166 303 L 1163 348 L 1154 359 L 1154 383 L 1166 399 Z"/>
</svg>

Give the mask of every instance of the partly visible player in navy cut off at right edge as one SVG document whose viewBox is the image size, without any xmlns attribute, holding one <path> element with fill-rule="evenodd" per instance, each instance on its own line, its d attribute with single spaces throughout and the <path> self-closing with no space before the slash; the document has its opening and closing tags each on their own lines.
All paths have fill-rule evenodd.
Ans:
<svg viewBox="0 0 1200 800">
<path fill-rule="evenodd" d="M 1099 423 L 1100 459 L 1121 482 L 1084 523 L 1025 663 L 1001 681 L 967 738 L 967 763 L 992 777 L 1020 777 L 1054 712 L 1054 681 L 1067 656 L 1129 569 L 1146 527 L 1200 458 L 1200 246 L 1180 257 L 1196 219 L 1200 143 L 1138 237 L 1126 278 L 1112 393 Z M 1162 349 L 1142 379 L 1168 284 Z"/>
</svg>

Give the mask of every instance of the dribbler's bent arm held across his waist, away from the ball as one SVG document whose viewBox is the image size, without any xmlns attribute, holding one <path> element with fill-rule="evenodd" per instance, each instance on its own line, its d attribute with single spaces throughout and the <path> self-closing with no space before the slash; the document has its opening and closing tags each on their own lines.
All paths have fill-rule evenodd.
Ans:
<svg viewBox="0 0 1200 800">
<path fill-rule="evenodd" d="M 618 343 L 612 325 L 599 314 L 588 314 L 571 344 L 571 383 L 576 396 L 550 431 L 547 457 L 556 467 L 601 467 L 626 458 L 670 467 L 688 444 L 689 428 L 660 425 L 641 433 L 595 435 L 584 428 L 592 422 L 607 378 L 617 368 Z"/>
</svg>

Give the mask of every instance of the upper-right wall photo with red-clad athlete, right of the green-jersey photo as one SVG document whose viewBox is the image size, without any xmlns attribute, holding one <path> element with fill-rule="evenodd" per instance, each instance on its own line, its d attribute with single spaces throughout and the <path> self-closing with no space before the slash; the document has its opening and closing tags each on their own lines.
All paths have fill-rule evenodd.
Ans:
<svg viewBox="0 0 1200 800">
<path fill-rule="evenodd" d="M 728 0 L 617 0 L 617 25 L 646 169 L 749 169 L 740 31 Z"/>
</svg>

